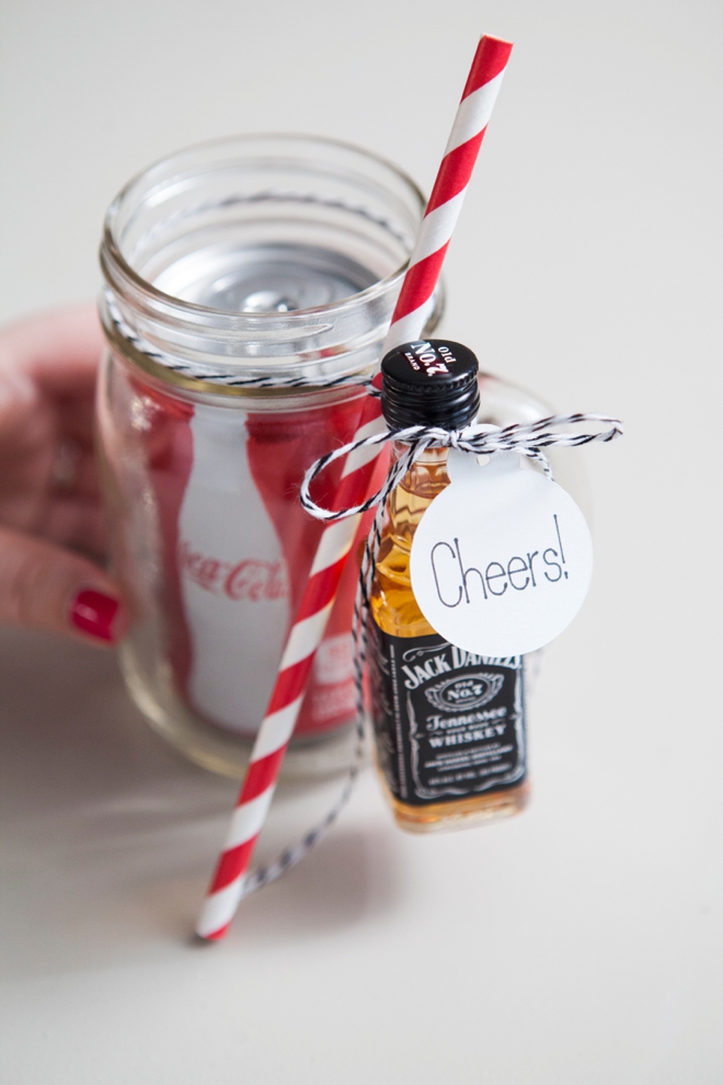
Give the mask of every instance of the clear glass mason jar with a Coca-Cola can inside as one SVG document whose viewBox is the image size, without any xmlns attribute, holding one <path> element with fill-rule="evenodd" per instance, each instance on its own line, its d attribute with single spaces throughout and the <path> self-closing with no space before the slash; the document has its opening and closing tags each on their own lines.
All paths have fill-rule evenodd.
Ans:
<svg viewBox="0 0 723 1085">
<path fill-rule="evenodd" d="M 298 486 L 356 430 L 424 203 L 355 147 L 249 136 L 159 162 L 107 213 L 99 439 L 133 614 L 122 665 L 206 768 L 248 763 L 322 532 Z M 438 292 L 428 331 L 440 309 Z M 351 760 L 355 581 L 348 562 L 287 773 Z"/>
</svg>

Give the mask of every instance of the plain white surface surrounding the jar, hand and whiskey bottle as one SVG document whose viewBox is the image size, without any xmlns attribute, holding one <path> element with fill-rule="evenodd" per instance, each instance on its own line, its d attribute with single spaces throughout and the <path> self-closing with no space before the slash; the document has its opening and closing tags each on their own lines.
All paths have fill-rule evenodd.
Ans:
<svg viewBox="0 0 723 1085">
<path fill-rule="evenodd" d="M 147 731 L 111 656 L 3 633 L 3 1082 L 718 1085 L 720 3 L 4 0 L 2 24 L 5 320 L 92 296 L 115 192 L 199 139 L 337 136 L 428 191 L 478 35 L 513 39 L 444 328 L 628 426 L 569 453 L 596 572 L 530 707 L 530 809 L 415 838 L 368 776 L 221 946 L 188 932 L 233 785 Z"/>
</svg>

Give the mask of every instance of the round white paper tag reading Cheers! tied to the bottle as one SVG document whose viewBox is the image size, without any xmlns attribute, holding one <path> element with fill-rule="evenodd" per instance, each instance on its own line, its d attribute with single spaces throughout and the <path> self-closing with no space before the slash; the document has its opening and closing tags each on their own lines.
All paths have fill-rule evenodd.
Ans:
<svg viewBox="0 0 723 1085">
<path fill-rule="evenodd" d="M 524 655 L 553 640 L 579 610 L 593 542 L 561 487 L 516 453 L 484 466 L 450 449 L 450 484 L 414 534 L 412 590 L 425 618 L 475 655 Z"/>
</svg>

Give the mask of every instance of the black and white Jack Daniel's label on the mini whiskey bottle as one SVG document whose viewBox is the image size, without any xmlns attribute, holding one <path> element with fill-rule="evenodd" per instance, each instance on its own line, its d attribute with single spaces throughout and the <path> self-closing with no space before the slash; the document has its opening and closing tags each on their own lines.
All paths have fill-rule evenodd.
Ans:
<svg viewBox="0 0 723 1085">
<path fill-rule="evenodd" d="M 451 802 L 523 781 L 521 656 L 393 637 L 372 620 L 369 663 L 379 763 L 398 799 Z"/>
</svg>

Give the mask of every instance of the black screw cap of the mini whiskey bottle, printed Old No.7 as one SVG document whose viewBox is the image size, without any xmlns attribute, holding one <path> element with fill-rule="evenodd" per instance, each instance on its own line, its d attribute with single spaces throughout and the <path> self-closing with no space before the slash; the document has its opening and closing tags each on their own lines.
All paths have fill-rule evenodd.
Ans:
<svg viewBox="0 0 723 1085">
<path fill-rule="evenodd" d="M 477 418 L 479 365 L 461 343 L 403 343 L 381 362 L 381 409 L 390 429 L 438 425 L 460 430 Z"/>
</svg>

